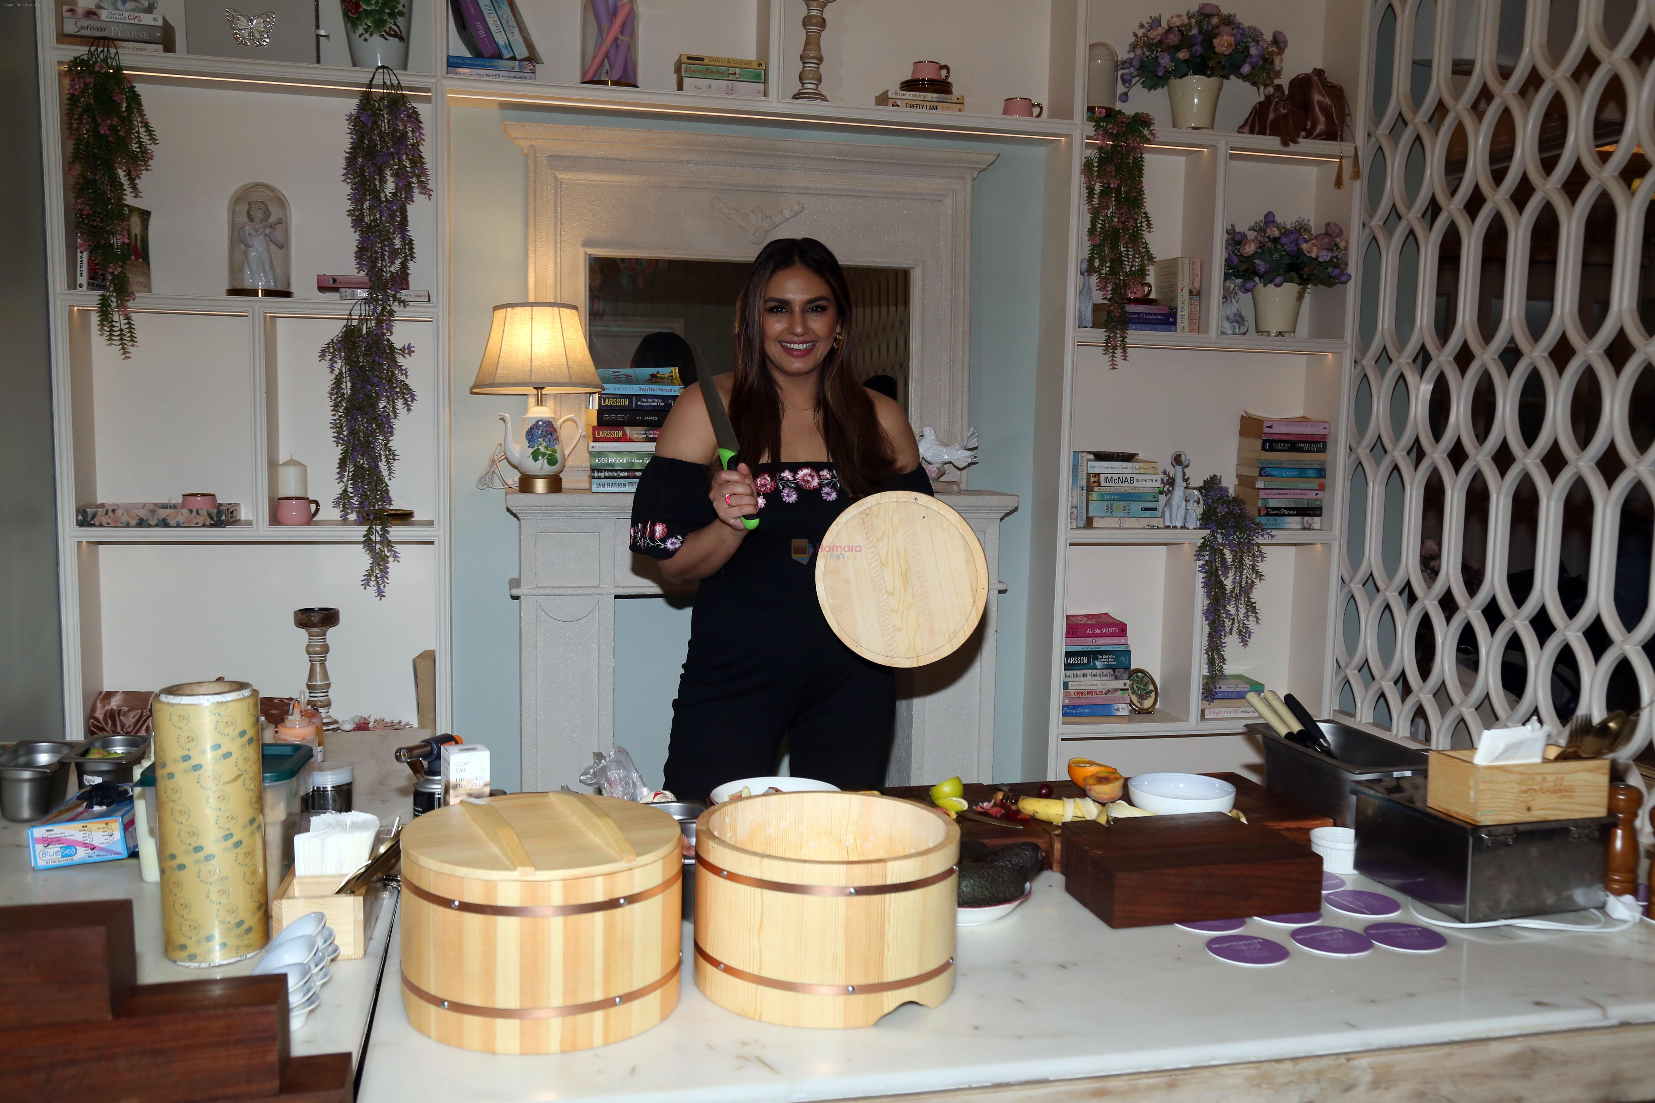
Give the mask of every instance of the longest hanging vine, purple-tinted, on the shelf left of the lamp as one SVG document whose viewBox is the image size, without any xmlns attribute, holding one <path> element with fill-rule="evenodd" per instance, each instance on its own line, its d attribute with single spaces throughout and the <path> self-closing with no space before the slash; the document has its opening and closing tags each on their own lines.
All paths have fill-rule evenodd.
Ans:
<svg viewBox="0 0 1655 1103">
<path fill-rule="evenodd" d="M 392 332 L 397 308 L 407 301 L 414 263 L 409 205 L 414 195 L 430 198 L 430 174 L 420 146 L 425 127 L 397 74 L 379 66 L 349 116 L 351 147 L 344 155 L 344 180 L 351 185 L 351 227 L 356 230 L 356 270 L 367 276 L 367 296 L 356 301 L 339 334 L 323 346 L 321 359 L 333 370 L 328 399 L 333 403 L 333 443 L 339 446 L 339 516 L 366 526 L 362 549 L 367 571 L 362 589 L 386 595 L 391 564 L 399 559 L 386 509 L 397 450 L 392 445 L 397 415 L 414 408 L 404 359 L 410 344 Z"/>
</svg>

